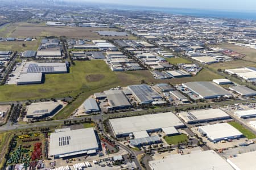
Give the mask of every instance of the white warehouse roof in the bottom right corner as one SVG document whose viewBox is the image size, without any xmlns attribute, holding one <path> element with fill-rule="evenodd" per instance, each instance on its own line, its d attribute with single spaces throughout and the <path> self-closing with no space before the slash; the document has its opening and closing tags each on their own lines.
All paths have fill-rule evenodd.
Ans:
<svg viewBox="0 0 256 170">
<path fill-rule="evenodd" d="M 236 170 L 256 169 L 256 151 L 238 154 L 236 157 L 229 158 L 227 161 Z"/>
</svg>

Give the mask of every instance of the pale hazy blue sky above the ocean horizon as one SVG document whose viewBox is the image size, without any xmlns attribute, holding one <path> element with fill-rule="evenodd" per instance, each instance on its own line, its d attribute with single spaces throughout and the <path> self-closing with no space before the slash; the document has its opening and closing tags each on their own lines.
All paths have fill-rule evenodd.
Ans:
<svg viewBox="0 0 256 170">
<path fill-rule="evenodd" d="M 256 0 L 80 0 L 87 2 L 118 3 L 126 5 L 205 8 L 256 12 Z"/>
</svg>

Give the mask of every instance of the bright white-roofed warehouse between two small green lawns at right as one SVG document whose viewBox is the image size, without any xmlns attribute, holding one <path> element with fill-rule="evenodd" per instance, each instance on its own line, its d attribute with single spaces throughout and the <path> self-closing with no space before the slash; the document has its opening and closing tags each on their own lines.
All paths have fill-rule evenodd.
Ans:
<svg viewBox="0 0 256 170">
<path fill-rule="evenodd" d="M 242 137 L 242 133 L 228 123 L 200 126 L 198 131 L 213 142 Z"/>
</svg>

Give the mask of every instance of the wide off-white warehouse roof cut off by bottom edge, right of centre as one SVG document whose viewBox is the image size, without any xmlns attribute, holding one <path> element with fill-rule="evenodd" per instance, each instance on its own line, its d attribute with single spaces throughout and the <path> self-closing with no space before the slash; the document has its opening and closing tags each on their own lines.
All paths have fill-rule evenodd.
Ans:
<svg viewBox="0 0 256 170">
<path fill-rule="evenodd" d="M 149 162 L 152 170 L 232 170 L 233 168 L 213 150 L 195 151 L 187 155 L 170 155 L 167 158 Z"/>
</svg>

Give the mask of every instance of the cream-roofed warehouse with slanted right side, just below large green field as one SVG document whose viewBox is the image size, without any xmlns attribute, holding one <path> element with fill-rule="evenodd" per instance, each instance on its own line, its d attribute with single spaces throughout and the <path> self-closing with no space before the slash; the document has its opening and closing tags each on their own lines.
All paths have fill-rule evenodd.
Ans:
<svg viewBox="0 0 256 170">
<path fill-rule="evenodd" d="M 53 116 L 63 105 L 59 102 L 46 101 L 40 103 L 32 103 L 27 106 L 27 118 L 43 118 Z"/>
</svg>

